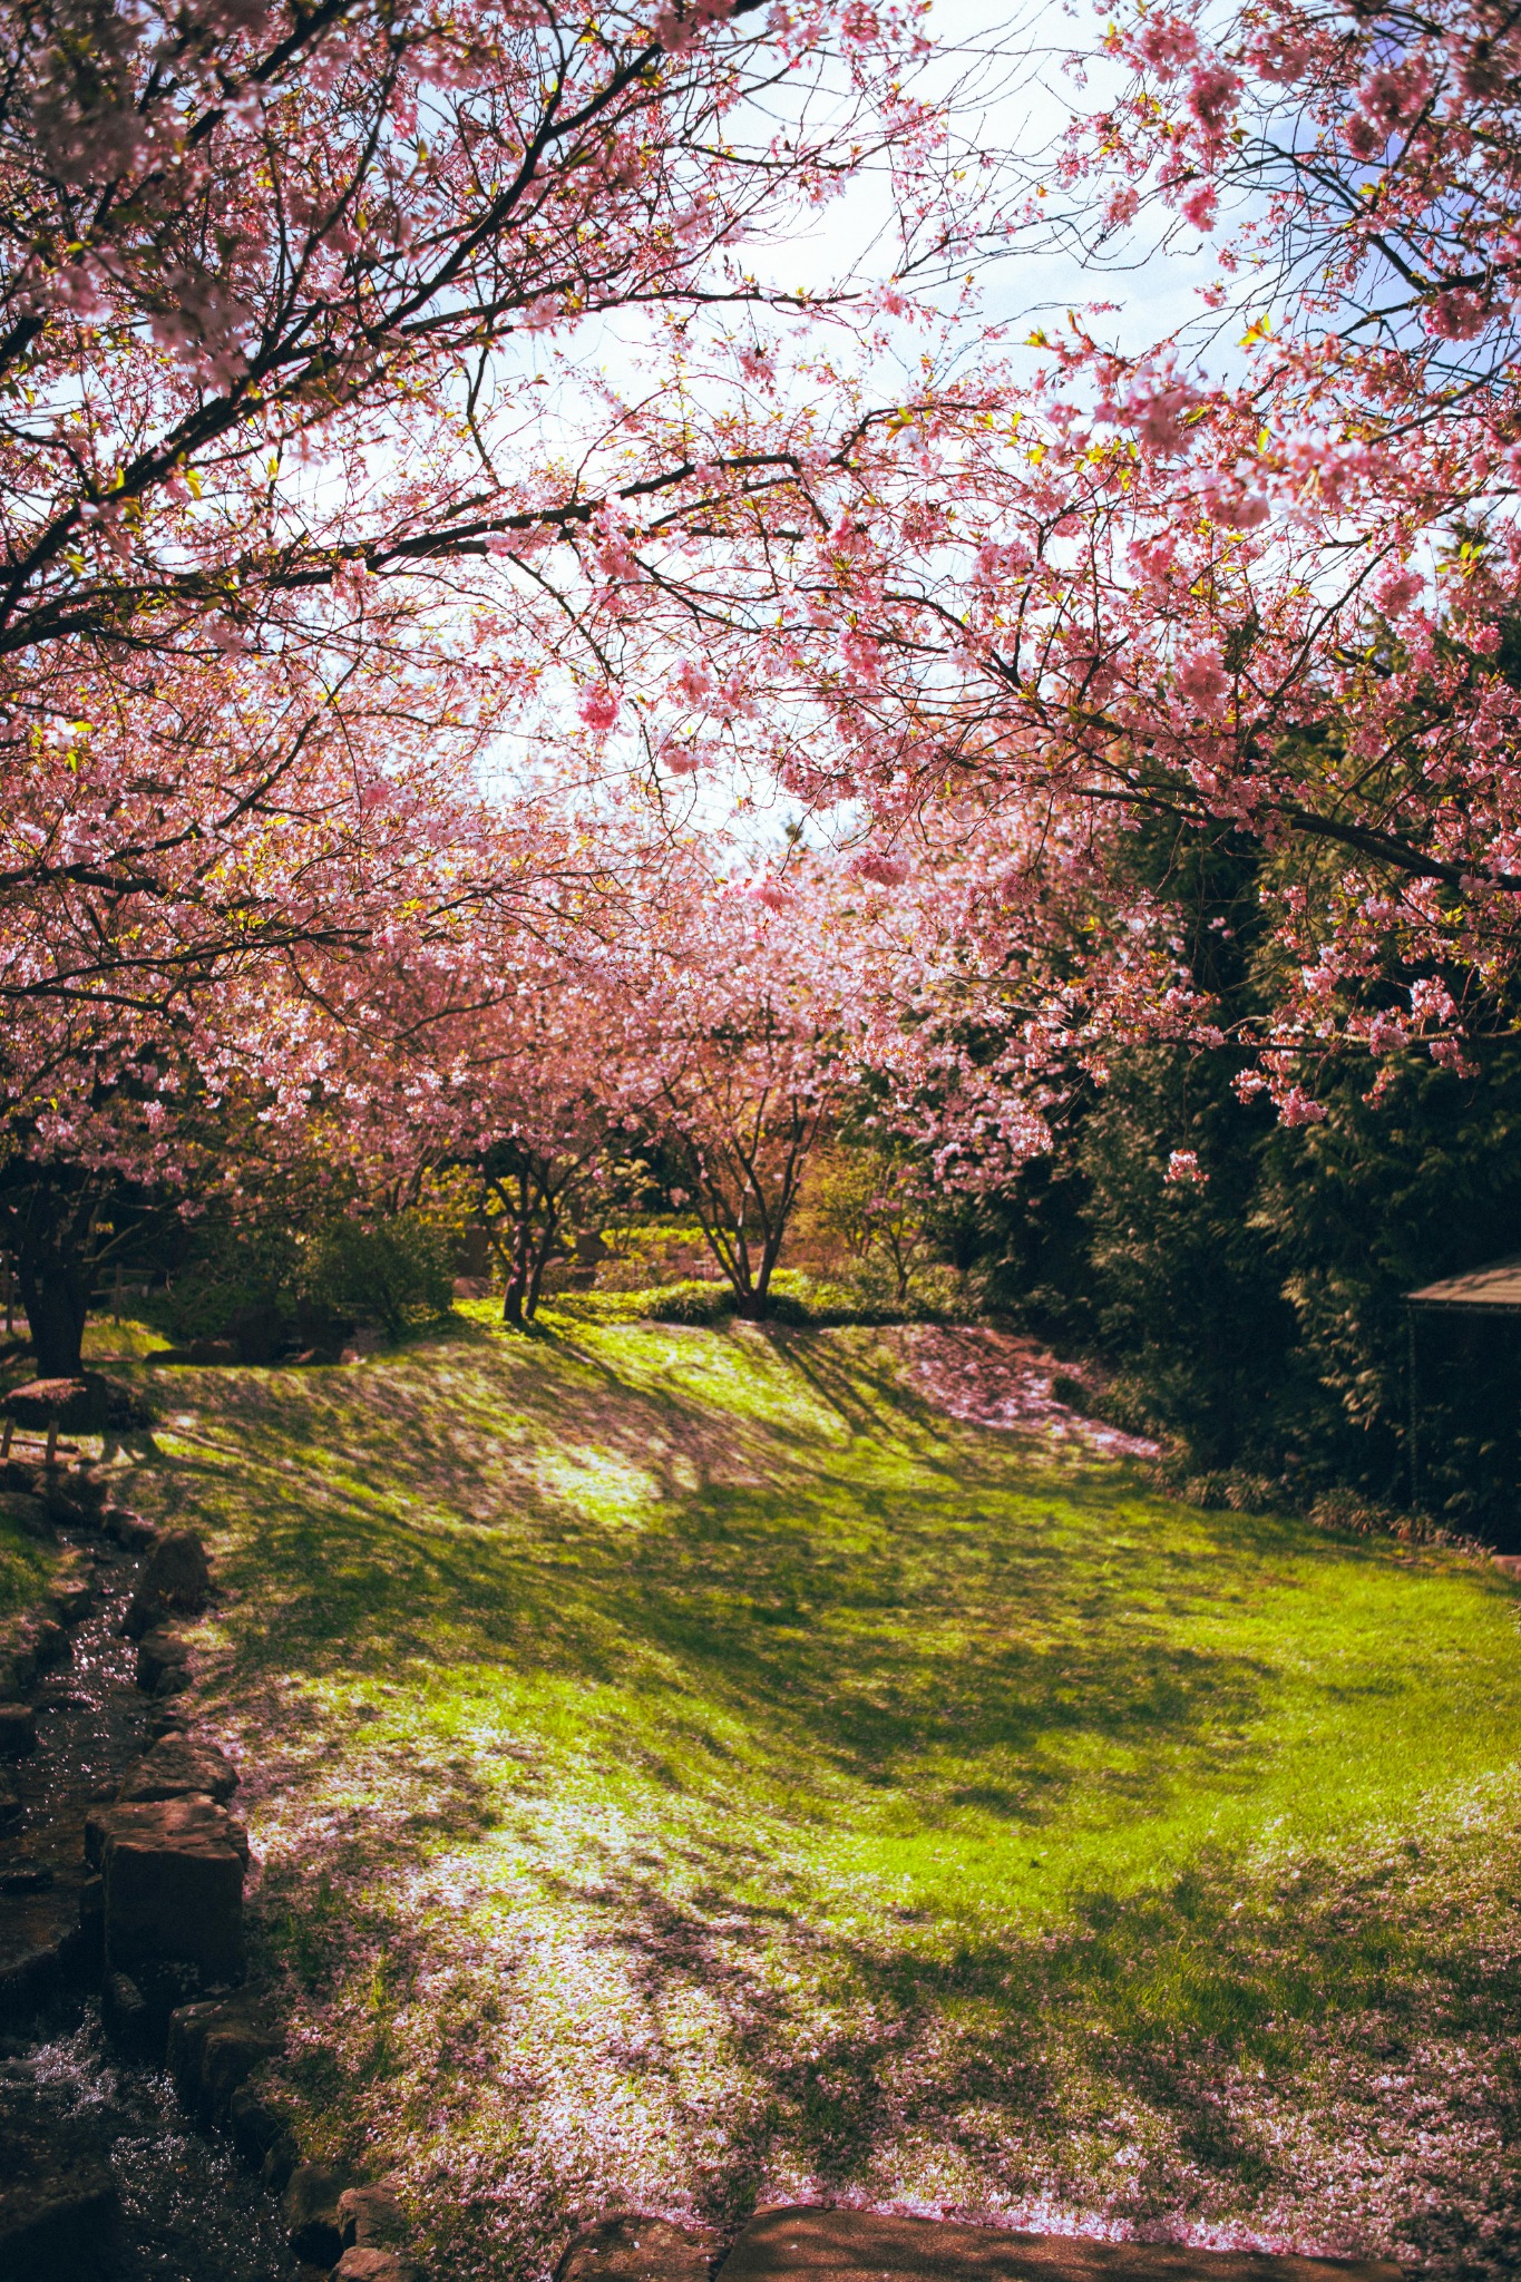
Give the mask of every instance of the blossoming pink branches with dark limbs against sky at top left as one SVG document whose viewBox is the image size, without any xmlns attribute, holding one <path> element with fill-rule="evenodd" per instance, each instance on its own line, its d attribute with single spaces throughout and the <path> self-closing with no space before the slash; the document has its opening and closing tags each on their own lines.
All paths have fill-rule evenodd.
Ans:
<svg viewBox="0 0 1521 2282">
<path fill-rule="evenodd" d="M 14 764 L 62 712 L 59 646 L 66 678 L 144 648 L 331 664 L 399 646 L 420 593 L 458 602 L 449 566 L 493 559 L 518 573 L 499 602 L 534 600 L 543 543 L 595 541 L 618 491 L 595 488 L 595 434 L 566 450 L 538 420 L 554 342 L 613 310 L 796 308 L 739 244 L 873 155 L 928 215 L 914 37 L 892 11 L 791 23 L 759 0 L 11 11 Z"/>
</svg>

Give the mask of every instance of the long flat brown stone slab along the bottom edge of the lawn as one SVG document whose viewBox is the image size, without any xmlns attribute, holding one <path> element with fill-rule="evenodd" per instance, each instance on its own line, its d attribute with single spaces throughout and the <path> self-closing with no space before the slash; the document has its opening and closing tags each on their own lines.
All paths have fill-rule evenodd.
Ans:
<svg viewBox="0 0 1521 2282">
<path fill-rule="evenodd" d="M 759 2211 L 718 2268 L 721 2282 L 1400 2282 L 1389 2259 L 1300 2259 L 1184 2243 L 1090 2243 L 1079 2234 L 1001 2234 L 937 2218 L 796 2207 Z"/>
</svg>

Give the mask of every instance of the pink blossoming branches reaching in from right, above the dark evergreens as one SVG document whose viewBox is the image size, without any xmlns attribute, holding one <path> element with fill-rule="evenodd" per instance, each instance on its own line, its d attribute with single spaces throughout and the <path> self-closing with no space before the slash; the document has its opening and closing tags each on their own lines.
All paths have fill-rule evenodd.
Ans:
<svg viewBox="0 0 1521 2282">
<path fill-rule="evenodd" d="M 1124 18 L 1111 68 L 1136 78 L 1067 141 L 1067 219 L 1095 251 L 1147 201 L 1218 228 L 1206 317 L 1245 319 L 1225 374 L 1206 340 L 1122 356 L 1074 317 L 896 404 L 862 377 L 778 477 L 791 513 L 730 495 L 702 607 L 641 616 L 680 659 L 650 751 L 680 774 L 746 744 L 812 806 L 862 803 L 903 874 L 976 874 L 983 831 L 1017 849 L 978 922 L 1056 1061 L 1101 1068 L 1136 1025 L 1220 1036 L 1188 915 L 1133 863 L 1163 831 L 1270 853 L 1243 1084 L 1286 1118 L 1348 1041 L 1462 1063 L 1507 1027 L 1512 46 L 1469 5 Z"/>
</svg>

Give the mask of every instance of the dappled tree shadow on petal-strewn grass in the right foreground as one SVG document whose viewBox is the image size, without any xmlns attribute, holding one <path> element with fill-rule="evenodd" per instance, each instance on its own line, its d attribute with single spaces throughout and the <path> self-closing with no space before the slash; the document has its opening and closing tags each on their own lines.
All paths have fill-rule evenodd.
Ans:
<svg viewBox="0 0 1521 2282">
<path fill-rule="evenodd" d="M 1516 1853 L 1510 1844 L 1507 1871 L 1489 1867 L 1496 1885 Z M 1304 2079 L 1316 2042 L 1364 2040 L 1393 2070 L 1441 2036 L 1500 2056 L 1521 2004 L 1521 1958 L 1496 1956 L 1491 1928 L 1453 1924 L 1430 1894 L 1402 1899 L 1398 1878 L 1359 1880 L 1341 1864 L 1311 1867 L 1293 1887 L 1247 1880 L 1243 1910 L 1241 1864 L 1206 1858 L 1145 1894 L 1095 1892 L 1040 1940 L 994 1928 L 953 1949 L 894 1951 L 794 1924 L 784 1976 L 764 1969 L 768 1915 L 737 1921 L 727 1899 L 705 1912 L 636 1876 L 609 1876 L 597 1903 L 600 1940 L 627 1958 L 652 2017 L 680 2010 L 684 1983 L 700 1988 L 723 2015 L 737 2079 L 764 2088 L 734 2109 L 707 2182 L 702 2216 L 718 2225 L 743 2223 L 775 2177 L 871 2193 L 885 2147 L 935 2147 L 951 2168 L 962 2159 L 983 2209 L 1022 2195 L 1092 2204 L 1092 2136 L 1117 2150 L 1145 2111 L 1172 2166 L 1147 2175 L 1142 2163 L 1111 2186 L 1140 2232 L 1158 2220 L 1172 2234 L 1190 2177 L 1195 2200 L 1295 2198 L 1302 2147 L 1282 2115 L 1323 2095 Z M 643 2065 L 668 2070 L 659 2047 Z M 1485 2113 L 1482 2141 L 1521 2145 L 1514 2070 L 1485 2070 L 1466 2097 Z M 702 2120 L 693 2109 L 693 2136 Z M 1464 2125 L 1459 2172 L 1473 2118 Z"/>
</svg>

